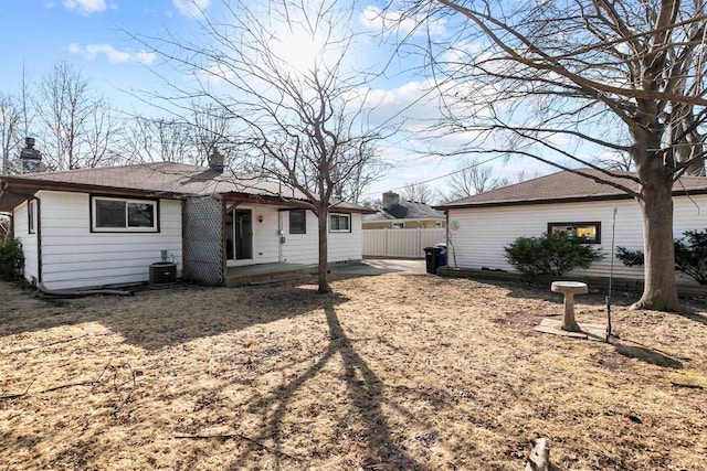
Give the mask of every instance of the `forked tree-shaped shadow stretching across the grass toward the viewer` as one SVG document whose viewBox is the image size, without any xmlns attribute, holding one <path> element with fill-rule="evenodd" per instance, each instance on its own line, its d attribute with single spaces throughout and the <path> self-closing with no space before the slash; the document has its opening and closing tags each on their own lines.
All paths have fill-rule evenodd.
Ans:
<svg viewBox="0 0 707 471">
<path fill-rule="evenodd" d="M 347 336 L 335 310 L 335 304 L 327 299 L 321 309 L 326 314 L 327 327 L 329 329 L 329 344 L 321 353 L 319 360 L 307 368 L 303 374 L 294 378 L 270 396 L 266 396 L 251 405 L 252 410 L 267 409 L 274 407 L 272 417 L 266 420 L 261 439 L 272 438 L 275 442 L 274 451 L 276 469 L 288 468 L 293 463 L 293 457 L 282 450 L 283 424 L 288 406 L 295 394 L 318 374 L 327 364 L 337 356 L 341 358 L 344 375 L 348 396 L 347 404 L 352 409 L 349 417 L 358 417 L 365 426 L 365 437 L 368 446 L 368 456 L 362 462 L 357 463 L 360 469 L 423 469 L 413 458 L 409 457 L 404 449 L 398 447 L 391 435 L 391 430 L 382 411 L 383 383 L 376 373 L 368 366 L 366 360 L 356 351 L 354 343 Z M 299 459 L 294 457 L 294 459 Z M 287 460 L 287 465 L 284 464 Z M 304 458 L 303 458 L 304 460 Z M 230 469 L 241 469 L 249 461 L 249 452 L 244 453 Z M 306 468 L 305 463 L 300 463 Z"/>
</svg>

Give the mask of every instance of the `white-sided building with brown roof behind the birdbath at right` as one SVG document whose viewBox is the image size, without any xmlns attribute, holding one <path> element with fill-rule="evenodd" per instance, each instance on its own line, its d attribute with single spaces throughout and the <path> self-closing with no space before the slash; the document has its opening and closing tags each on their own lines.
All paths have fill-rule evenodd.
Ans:
<svg viewBox="0 0 707 471">
<path fill-rule="evenodd" d="M 604 178 L 597 170 L 584 173 Z M 615 178 L 624 185 L 636 186 Z M 673 189 L 675 237 L 685 231 L 707 227 L 707 178 L 683 176 Z M 615 246 L 643 250 L 643 217 L 639 203 L 626 193 L 571 172 L 559 172 L 492 190 L 437 206 L 447 211 L 451 250 L 449 265 L 471 269 L 513 271 L 504 247 L 517 237 L 561 231 L 583 236 L 605 255 L 587 270 L 572 274 L 605 277 L 610 269 L 612 235 Z M 615 234 L 612 228 L 616 208 Z M 643 278 L 643 267 L 625 267 L 614 259 L 613 272 L 622 278 Z M 570 275 L 572 275 L 570 274 Z M 680 280 L 692 282 L 683 277 Z"/>
</svg>

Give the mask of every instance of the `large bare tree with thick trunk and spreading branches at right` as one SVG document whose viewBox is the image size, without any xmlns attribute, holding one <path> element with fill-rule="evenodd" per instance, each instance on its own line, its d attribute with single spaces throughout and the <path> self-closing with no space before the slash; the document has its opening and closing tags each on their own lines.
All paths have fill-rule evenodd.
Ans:
<svg viewBox="0 0 707 471">
<path fill-rule="evenodd" d="M 707 117 L 704 3 L 403 3 L 402 18 L 445 22 L 449 34 L 429 34 L 425 47 L 447 105 L 444 130 L 473 131 L 469 152 L 531 157 L 591 178 L 574 170 L 579 163 L 614 176 L 594 180 L 635 197 L 643 212 L 645 288 L 635 306 L 678 310 L 672 188 L 704 158 L 697 138 L 686 160 L 675 156 Z M 401 18 L 392 8 L 383 14 Z M 626 153 L 636 174 L 615 174 L 568 149 Z"/>
</svg>

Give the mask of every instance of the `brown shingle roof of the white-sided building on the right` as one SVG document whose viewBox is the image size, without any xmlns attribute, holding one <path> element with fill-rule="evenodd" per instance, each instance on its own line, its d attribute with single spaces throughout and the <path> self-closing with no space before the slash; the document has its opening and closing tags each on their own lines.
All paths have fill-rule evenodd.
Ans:
<svg viewBox="0 0 707 471">
<path fill-rule="evenodd" d="M 639 192 L 639 184 L 630 180 L 635 176 L 631 172 L 613 172 L 615 176 L 606 176 L 599 170 L 580 169 L 582 173 L 591 176 L 613 181 Z M 683 176 L 673 185 L 673 193 L 699 193 L 707 192 L 706 176 Z M 562 171 L 526 182 L 516 183 L 464 197 L 462 200 L 441 204 L 437 208 L 454 208 L 465 206 L 490 206 L 552 203 L 558 201 L 591 201 L 591 200 L 619 200 L 631 196 L 620 189 L 605 183 L 599 183 L 577 173 Z"/>
</svg>

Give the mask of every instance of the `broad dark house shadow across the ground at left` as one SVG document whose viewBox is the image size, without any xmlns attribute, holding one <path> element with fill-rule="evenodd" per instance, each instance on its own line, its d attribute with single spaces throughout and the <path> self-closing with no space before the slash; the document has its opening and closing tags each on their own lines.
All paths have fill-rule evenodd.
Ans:
<svg viewBox="0 0 707 471">
<path fill-rule="evenodd" d="M 24 296 L 27 293 L 11 293 Z M 73 300 L 29 298 L 28 309 L 3 313 L 0 339 L 22 332 L 98 322 L 126 343 L 146 350 L 245 330 L 312 312 L 320 306 L 315 289 L 292 283 L 243 288 L 180 286 L 143 291 L 134 297 L 91 297 Z M 347 298 L 333 296 L 331 306 Z"/>
</svg>

